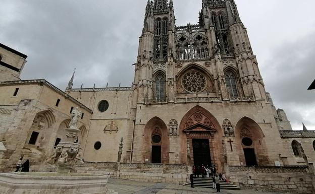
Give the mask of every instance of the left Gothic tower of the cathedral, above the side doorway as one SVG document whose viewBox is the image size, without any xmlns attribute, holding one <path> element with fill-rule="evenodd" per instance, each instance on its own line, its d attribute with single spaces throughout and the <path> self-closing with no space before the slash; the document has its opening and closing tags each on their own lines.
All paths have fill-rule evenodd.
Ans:
<svg viewBox="0 0 315 194">
<path fill-rule="evenodd" d="M 172 60 L 174 48 L 171 42 L 174 35 L 173 1 L 148 1 L 135 64 L 134 104 L 148 100 L 166 101 L 166 72 L 155 73 L 153 77 L 153 66 L 166 66 L 166 63 Z M 152 94 L 152 91 L 155 93 Z"/>
</svg>

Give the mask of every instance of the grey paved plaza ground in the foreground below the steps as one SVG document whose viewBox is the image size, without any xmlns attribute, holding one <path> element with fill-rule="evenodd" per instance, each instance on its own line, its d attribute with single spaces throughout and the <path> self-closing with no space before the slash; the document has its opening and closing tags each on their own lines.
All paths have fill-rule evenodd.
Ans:
<svg viewBox="0 0 315 194">
<path fill-rule="evenodd" d="M 217 193 L 211 188 L 190 188 L 183 185 L 110 179 L 108 184 L 118 194 L 205 194 Z M 271 194 L 248 190 L 221 190 L 222 194 Z M 283 193 L 282 193 L 283 194 Z"/>
</svg>

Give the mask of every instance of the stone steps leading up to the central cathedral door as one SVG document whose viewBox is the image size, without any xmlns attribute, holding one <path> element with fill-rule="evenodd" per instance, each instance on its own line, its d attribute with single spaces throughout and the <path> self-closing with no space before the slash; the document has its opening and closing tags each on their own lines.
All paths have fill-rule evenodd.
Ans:
<svg viewBox="0 0 315 194">
<path fill-rule="evenodd" d="M 183 184 L 184 186 L 190 186 L 190 182 Z M 202 187 L 202 188 L 212 188 L 213 181 L 212 178 L 194 178 L 194 187 Z M 221 189 L 226 190 L 240 190 L 241 187 L 236 186 L 232 183 L 227 183 L 224 181 L 220 181 Z"/>
</svg>

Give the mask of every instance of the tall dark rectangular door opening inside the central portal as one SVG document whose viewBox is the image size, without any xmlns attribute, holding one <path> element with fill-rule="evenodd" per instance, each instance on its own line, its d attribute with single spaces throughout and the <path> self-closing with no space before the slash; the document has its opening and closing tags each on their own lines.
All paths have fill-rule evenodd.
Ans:
<svg viewBox="0 0 315 194">
<path fill-rule="evenodd" d="M 212 166 L 208 139 L 192 139 L 194 166 Z"/>
</svg>

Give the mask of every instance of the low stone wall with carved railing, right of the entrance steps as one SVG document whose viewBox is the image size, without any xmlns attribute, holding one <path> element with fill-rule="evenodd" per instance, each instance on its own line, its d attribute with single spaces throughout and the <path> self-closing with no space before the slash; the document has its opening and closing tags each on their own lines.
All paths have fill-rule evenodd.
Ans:
<svg viewBox="0 0 315 194">
<path fill-rule="evenodd" d="M 314 193 L 315 175 L 307 166 L 230 166 L 230 181 L 243 189 Z"/>
</svg>

